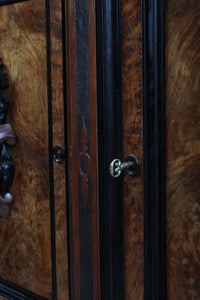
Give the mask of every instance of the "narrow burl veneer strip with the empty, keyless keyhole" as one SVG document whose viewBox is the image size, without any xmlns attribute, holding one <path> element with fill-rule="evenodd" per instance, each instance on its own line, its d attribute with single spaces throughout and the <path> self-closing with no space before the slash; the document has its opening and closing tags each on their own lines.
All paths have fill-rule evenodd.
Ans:
<svg viewBox="0 0 200 300">
<path fill-rule="evenodd" d="M 53 147 L 65 147 L 62 1 L 50 1 Z M 54 161 L 57 299 L 69 299 L 65 161 Z"/>
</svg>

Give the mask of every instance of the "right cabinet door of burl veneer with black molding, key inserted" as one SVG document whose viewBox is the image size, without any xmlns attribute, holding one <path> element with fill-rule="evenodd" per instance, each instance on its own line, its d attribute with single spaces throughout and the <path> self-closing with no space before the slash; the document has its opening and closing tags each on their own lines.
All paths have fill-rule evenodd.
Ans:
<svg viewBox="0 0 200 300">
<path fill-rule="evenodd" d="M 140 5 L 121 1 L 124 155 L 143 158 L 143 178 L 124 177 L 125 299 L 196 300 L 200 4 Z"/>
</svg>

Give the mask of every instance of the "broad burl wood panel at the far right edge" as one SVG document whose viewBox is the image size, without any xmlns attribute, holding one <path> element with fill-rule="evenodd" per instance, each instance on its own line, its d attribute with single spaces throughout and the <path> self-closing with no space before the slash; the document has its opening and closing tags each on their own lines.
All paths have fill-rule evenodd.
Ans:
<svg viewBox="0 0 200 300">
<path fill-rule="evenodd" d="M 167 299 L 200 299 L 200 2 L 166 1 Z"/>
</svg>

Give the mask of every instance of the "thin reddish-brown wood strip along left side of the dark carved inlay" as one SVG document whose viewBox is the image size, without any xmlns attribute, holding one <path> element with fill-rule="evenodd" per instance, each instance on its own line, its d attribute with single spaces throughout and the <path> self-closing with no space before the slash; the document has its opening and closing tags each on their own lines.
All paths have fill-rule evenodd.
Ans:
<svg viewBox="0 0 200 300">
<path fill-rule="evenodd" d="M 80 242 L 79 242 L 79 199 L 78 199 L 78 145 L 77 145 L 77 95 L 76 95 L 76 44 L 75 44 L 75 9 L 74 1 L 68 3 L 68 35 L 69 35 L 69 106 L 68 112 L 70 122 L 70 160 L 71 184 L 70 184 L 70 206 L 71 206 L 71 232 L 72 241 L 72 299 L 80 299 Z"/>
</svg>

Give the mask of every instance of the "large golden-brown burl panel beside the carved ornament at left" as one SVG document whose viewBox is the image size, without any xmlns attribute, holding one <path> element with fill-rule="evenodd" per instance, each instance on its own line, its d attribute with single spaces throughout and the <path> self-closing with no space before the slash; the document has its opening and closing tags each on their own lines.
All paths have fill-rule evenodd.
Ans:
<svg viewBox="0 0 200 300">
<path fill-rule="evenodd" d="M 0 277 L 51 299 L 45 1 L 3 6 L 0 16 L 8 122 L 18 137 L 14 204 L 8 220 L 0 219 Z"/>
</svg>

